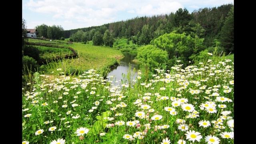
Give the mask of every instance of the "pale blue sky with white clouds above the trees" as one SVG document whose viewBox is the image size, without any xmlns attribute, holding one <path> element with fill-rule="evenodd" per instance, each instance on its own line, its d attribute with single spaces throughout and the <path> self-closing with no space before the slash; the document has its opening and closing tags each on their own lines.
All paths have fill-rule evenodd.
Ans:
<svg viewBox="0 0 256 144">
<path fill-rule="evenodd" d="M 175 13 L 179 8 L 186 8 L 191 13 L 222 4 L 234 4 L 234 0 L 22 0 L 22 18 L 27 28 L 55 24 L 70 30 L 136 16 Z"/>
</svg>

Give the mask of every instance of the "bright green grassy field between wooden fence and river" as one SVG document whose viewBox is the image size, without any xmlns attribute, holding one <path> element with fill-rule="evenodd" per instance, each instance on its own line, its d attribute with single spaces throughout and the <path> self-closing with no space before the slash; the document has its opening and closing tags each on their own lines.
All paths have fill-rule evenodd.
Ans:
<svg viewBox="0 0 256 144">
<path fill-rule="evenodd" d="M 29 39 L 29 42 L 45 43 L 46 41 Z M 67 59 L 63 60 L 62 62 L 52 63 L 52 65 L 47 68 L 48 72 L 55 72 L 57 68 L 62 68 L 64 70 L 78 69 L 81 71 L 94 68 L 100 72 L 103 72 L 106 71 L 109 66 L 112 66 L 123 57 L 122 52 L 107 46 L 92 46 L 91 44 L 82 44 L 77 42 L 73 42 L 73 44 L 61 44 L 61 46 L 72 47 L 78 52 L 79 58 Z"/>
</svg>

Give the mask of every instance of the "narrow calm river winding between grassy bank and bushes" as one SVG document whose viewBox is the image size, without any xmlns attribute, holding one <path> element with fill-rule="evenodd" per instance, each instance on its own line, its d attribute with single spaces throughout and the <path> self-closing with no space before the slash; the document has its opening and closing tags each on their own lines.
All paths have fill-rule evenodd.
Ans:
<svg viewBox="0 0 256 144">
<path fill-rule="evenodd" d="M 129 52 L 124 52 L 123 54 L 124 54 L 124 58 L 120 60 L 120 64 L 108 73 L 108 77 L 114 76 L 113 78 L 109 77 L 108 80 L 112 80 L 115 86 L 118 84 L 119 85 L 121 84 L 121 80 L 123 80 L 122 74 L 125 74 L 125 75 L 127 74 L 129 70 L 129 63 L 131 64 L 131 70 L 136 68 L 136 71 L 137 71 L 139 68 L 138 64 L 132 62 L 135 56 L 132 56 Z M 134 74 L 134 77 L 132 79 L 135 80 L 136 76 L 137 76 L 137 72 Z"/>
</svg>

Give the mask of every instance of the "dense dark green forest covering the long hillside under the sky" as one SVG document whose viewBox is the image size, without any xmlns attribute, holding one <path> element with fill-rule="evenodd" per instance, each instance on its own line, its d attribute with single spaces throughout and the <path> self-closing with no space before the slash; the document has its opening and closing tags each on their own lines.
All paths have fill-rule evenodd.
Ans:
<svg viewBox="0 0 256 144">
<path fill-rule="evenodd" d="M 165 15 L 136 17 L 102 26 L 65 30 L 64 37 L 70 37 L 75 42 L 94 39 L 94 45 L 102 45 L 105 43 L 103 36 L 106 30 L 110 33 L 106 37 L 109 35 L 111 40 L 125 37 L 138 45 L 149 44 L 151 40 L 175 31 L 192 38 L 204 38 L 203 45 L 207 48 L 214 48 L 219 44 L 225 52 L 233 52 L 234 7 L 232 4 L 224 4 L 217 8 L 200 8 L 191 14 L 186 8 L 180 8 L 175 13 Z"/>
</svg>

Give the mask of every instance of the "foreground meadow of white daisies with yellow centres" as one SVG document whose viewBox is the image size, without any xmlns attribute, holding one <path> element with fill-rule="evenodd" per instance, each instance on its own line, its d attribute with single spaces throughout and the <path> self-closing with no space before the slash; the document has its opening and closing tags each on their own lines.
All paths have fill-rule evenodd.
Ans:
<svg viewBox="0 0 256 144">
<path fill-rule="evenodd" d="M 31 89 L 23 90 L 24 143 L 234 144 L 231 60 L 176 65 L 149 80 L 139 72 L 121 86 L 95 70 L 77 77 L 63 71 L 36 73 Z"/>
</svg>

